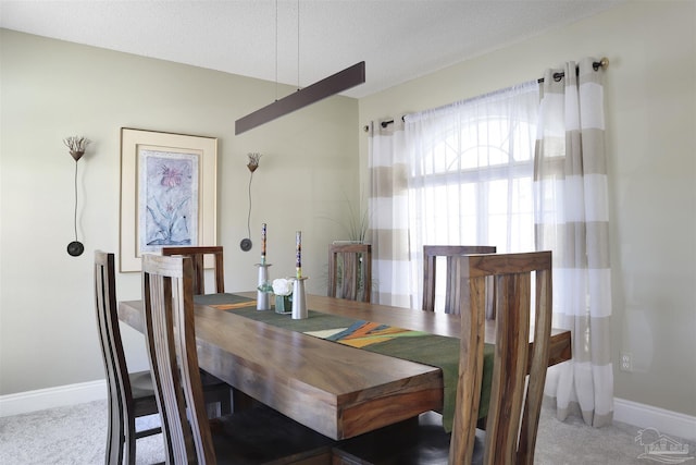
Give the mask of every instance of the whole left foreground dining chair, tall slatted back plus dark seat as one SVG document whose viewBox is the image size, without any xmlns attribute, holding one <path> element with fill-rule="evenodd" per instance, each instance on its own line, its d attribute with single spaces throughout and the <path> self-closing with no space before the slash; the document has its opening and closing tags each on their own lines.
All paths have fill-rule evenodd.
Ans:
<svg viewBox="0 0 696 465">
<path fill-rule="evenodd" d="M 208 419 L 198 369 L 192 274 L 190 257 L 142 257 L 145 333 L 166 463 L 331 464 L 333 440 L 268 406 Z"/>
</svg>

